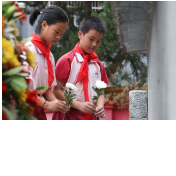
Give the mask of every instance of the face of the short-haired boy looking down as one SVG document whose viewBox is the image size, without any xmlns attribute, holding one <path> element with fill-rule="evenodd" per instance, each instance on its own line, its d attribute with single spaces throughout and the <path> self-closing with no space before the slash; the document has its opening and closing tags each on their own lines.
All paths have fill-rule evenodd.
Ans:
<svg viewBox="0 0 176 176">
<path fill-rule="evenodd" d="M 100 46 L 103 38 L 103 33 L 98 32 L 95 29 L 90 29 L 89 32 L 83 35 L 82 31 L 79 31 L 78 37 L 80 39 L 79 47 L 84 54 L 95 52 Z"/>
</svg>

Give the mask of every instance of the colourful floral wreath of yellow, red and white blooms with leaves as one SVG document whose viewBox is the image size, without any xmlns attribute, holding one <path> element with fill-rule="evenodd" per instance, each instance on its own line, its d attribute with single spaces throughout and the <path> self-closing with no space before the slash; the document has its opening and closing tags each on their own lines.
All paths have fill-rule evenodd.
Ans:
<svg viewBox="0 0 176 176">
<path fill-rule="evenodd" d="M 29 90 L 30 67 L 35 67 L 35 58 L 25 43 L 31 38 L 21 40 L 16 20 L 21 24 L 27 17 L 20 8 L 25 4 L 17 1 L 2 1 L 2 120 L 36 120 L 34 107 L 38 105 L 38 90 Z M 26 60 L 21 55 L 26 54 Z M 27 62 L 29 66 L 24 65 Z"/>
</svg>

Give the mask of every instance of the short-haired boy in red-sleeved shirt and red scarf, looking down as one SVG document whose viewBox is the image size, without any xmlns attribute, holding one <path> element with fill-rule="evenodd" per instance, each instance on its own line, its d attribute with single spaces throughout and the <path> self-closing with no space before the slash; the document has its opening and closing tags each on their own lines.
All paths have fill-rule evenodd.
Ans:
<svg viewBox="0 0 176 176">
<path fill-rule="evenodd" d="M 92 120 L 97 117 L 105 117 L 104 95 L 100 95 L 97 107 L 93 96 L 96 93 L 92 89 L 96 80 L 109 84 L 108 77 L 102 62 L 94 53 L 100 46 L 106 30 L 102 19 L 90 16 L 83 19 L 78 37 L 80 42 L 73 50 L 63 55 L 56 64 L 55 73 L 57 86 L 53 87 L 53 93 L 59 100 L 65 100 L 63 86 L 66 83 L 74 84 L 78 89 L 74 94 L 78 95 L 73 100 L 70 111 L 65 114 L 65 120 Z M 62 120 L 64 114 L 55 111 L 53 120 Z"/>
</svg>

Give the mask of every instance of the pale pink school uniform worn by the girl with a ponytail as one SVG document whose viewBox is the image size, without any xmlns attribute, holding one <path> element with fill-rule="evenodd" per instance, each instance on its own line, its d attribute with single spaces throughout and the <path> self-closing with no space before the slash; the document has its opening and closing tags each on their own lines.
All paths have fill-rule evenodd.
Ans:
<svg viewBox="0 0 176 176">
<path fill-rule="evenodd" d="M 38 40 L 38 42 L 41 43 L 41 41 L 39 41 L 36 35 L 32 34 L 32 36 L 34 37 L 34 39 L 36 38 L 36 40 Z M 33 52 L 36 65 L 35 68 L 30 67 L 30 74 L 26 77 L 27 79 L 30 79 L 29 89 L 33 91 L 37 87 L 47 86 L 45 90 L 39 90 L 38 95 L 46 93 L 47 90 L 49 90 L 51 87 L 57 85 L 55 76 L 55 60 L 52 53 L 50 52 L 50 49 L 48 48 L 50 47 L 50 45 L 46 47 L 44 43 L 41 44 L 42 47 L 45 47 L 44 50 L 48 49 L 47 58 L 49 60 L 46 59 L 46 56 L 42 53 L 41 49 L 37 47 L 37 43 L 35 44 L 35 42 L 33 41 L 28 41 L 25 44 L 26 46 L 29 47 L 29 50 Z M 50 69 L 48 68 L 48 62 L 50 63 L 49 65 Z M 38 120 L 47 120 L 44 108 L 40 106 L 36 106 L 34 108 L 34 116 Z"/>
</svg>

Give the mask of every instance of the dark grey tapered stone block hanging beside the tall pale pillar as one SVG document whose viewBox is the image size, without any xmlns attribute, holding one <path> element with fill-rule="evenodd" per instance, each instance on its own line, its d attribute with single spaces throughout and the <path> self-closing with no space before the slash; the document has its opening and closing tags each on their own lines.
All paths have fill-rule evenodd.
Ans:
<svg viewBox="0 0 176 176">
<path fill-rule="evenodd" d="M 147 54 L 152 1 L 111 1 L 116 34 L 125 53 Z"/>
</svg>

